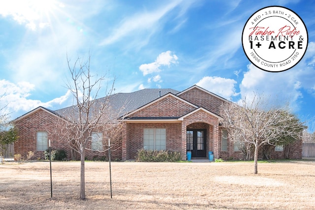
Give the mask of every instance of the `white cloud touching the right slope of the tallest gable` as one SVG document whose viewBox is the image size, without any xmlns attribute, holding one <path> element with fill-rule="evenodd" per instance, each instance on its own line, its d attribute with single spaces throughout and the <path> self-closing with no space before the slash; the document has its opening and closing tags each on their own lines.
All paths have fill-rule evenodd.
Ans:
<svg viewBox="0 0 315 210">
<path fill-rule="evenodd" d="M 229 100 L 236 95 L 234 88 L 236 83 L 233 79 L 207 76 L 197 82 L 196 85 Z"/>
</svg>

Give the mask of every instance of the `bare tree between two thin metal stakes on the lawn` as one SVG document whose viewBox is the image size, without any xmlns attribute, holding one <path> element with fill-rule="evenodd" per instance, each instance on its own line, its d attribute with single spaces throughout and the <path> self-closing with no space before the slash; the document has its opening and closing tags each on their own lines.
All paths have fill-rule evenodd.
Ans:
<svg viewBox="0 0 315 210">
<path fill-rule="evenodd" d="M 87 150 L 91 150 L 93 133 L 101 133 L 98 136 L 101 141 L 96 142 L 97 150 L 99 152 L 108 150 L 108 145 L 104 143 L 107 142 L 106 139 L 108 138 L 111 138 L 112 141 L 117 138 L 121 123 L 117 119 L 124 109 L 124 107 L 121 107 L 117 110 L 110 105 L 110 95 L 114 90 L 114 82 L 111 86 L 108 86 L 107 82 L 106 90 L 102 90 L 105 76 L 91 75 L 90 60 L 90 56 L 87 61 L 78 58 L 71 67 L 70 60 L 67 57 L 68 68 L 71 73 L 67 88 L 74 96 L 74 103 L 72 107 L 64 109 L 61 113 L 65 120 L 61 123 L 63 126 L 61 126 L 59 132 L 70 147 L 80 154 L 80 198 L 82 200 L 86 198 L 85 155 Z M 104 91 L 105 97 L 96 99 Z"/>
</svg>

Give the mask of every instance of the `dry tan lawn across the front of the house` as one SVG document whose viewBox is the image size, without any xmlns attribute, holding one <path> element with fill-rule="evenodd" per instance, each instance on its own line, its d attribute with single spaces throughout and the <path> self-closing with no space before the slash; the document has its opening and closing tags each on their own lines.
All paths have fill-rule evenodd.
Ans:
<svg viewBox="0 0 315 210">
<path fill-rule="evenodd" d="M 139 163 L 86 162 L 86 196 L 79 199 L 80 162 L 0 165 L 0 209 L 315 209 L 315 161 Z"/>
</svg>

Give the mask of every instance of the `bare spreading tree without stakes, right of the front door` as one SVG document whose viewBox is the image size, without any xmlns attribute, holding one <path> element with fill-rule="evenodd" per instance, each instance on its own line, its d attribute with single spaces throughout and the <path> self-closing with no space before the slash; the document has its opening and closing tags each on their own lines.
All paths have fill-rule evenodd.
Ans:
<svg viewBox="0 0 315 210">
<path fill-rule="evenodd" d="M 300 123 L 292 123 L 291 115 L 284 114 L 286 111 L 265 110 L 266 107 L 269 107 L 267 101 L 256 94 L 250 102 L 245 97 L 240 105 L 226 103 L 221 107 L 223 125 L 227 128 L 230 139 L 240 145 L 250 144 L 254 148 L 254 174 L 258 173 L 258 151 L 262 146 L 280 145 L 280 142 L 285 141 L 282 136 L 292 137 L 296 135 L 295 129 L 301 128 Z"/>
</svg>

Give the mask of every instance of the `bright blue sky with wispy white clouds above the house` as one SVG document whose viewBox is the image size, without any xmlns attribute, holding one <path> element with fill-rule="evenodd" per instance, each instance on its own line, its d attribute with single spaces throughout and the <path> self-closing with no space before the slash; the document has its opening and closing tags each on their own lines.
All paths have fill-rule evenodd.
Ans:
<svg viewBox="0 0 315 210">
<path fill-rule="evenodd" d="M 278 73 L 253 66 L 241 38 L 248 18 L 272 5 L 295 11 L 309 34 L 304 58 Z M 313 132 L 314 14 L 314 0 L 3 0 L 0 104 L 12 119 L 72 105 L 66 55 L 71 63 L 90 54 L 93 73 L 116 77 L 115 93 L 197 84 L 238 101 L 258 92 L 289 102 Z"/>
</svg>

